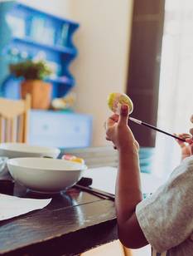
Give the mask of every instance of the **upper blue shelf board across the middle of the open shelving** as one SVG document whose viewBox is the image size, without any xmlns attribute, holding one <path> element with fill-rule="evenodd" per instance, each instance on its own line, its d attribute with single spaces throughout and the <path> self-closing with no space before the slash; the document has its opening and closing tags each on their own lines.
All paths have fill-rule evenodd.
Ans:
<svg viewBox="0 0 193 256">
<path fill-rule="evenodd" d="M 75 56 L 77 54 L 76 49 L 70 48 L 70 47 L 60 47 L 60 46 L 51 46 L 43 42 L 37 42 L 36 40 L 31 39 L 30 37 L 12 37 L 12 41 L 14 42 L 23 42 L 27 44 L 31 44 L 32 46 L 46 48 L 48 50 L 54 51 L 54 52 L 60 52 L 63 54 L 70 54 Z"/>
</svg>

